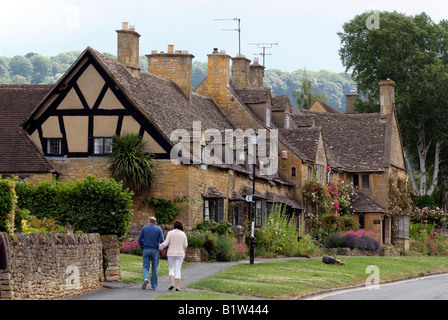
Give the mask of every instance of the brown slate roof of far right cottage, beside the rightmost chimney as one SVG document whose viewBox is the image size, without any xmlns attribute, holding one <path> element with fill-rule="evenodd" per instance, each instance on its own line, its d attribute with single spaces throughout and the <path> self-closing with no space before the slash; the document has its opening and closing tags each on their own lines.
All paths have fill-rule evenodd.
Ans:
<svg viewBox="0 0 448 320">
<path fill-rule="evenodd" d="M 338 114 L 300 110 L 298 125 L 322 128 L 328 164 L 348 172 L 384 171 L 387 119 L 378 113 Z"/>
</svg>

